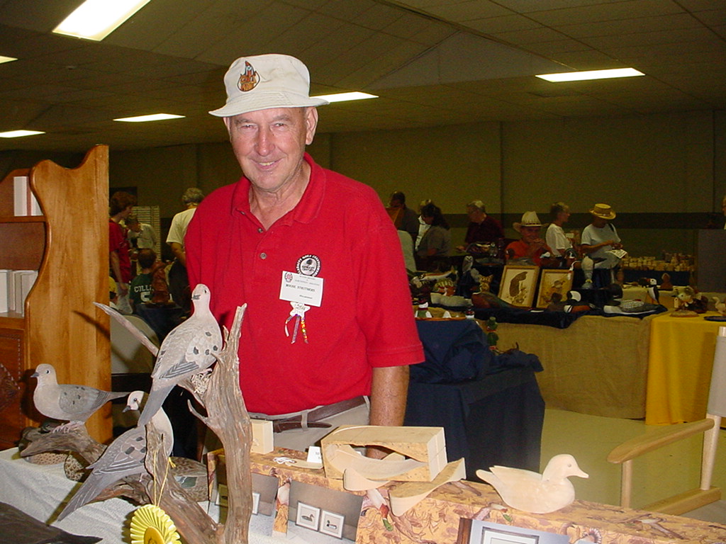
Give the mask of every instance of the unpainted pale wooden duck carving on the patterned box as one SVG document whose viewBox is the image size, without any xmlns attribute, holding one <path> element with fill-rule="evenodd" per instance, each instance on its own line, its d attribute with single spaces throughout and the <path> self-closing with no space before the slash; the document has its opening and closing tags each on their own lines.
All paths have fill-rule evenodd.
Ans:
<svg viewBox="0 0 726 544">
<path fill-rule="evenodd" d="M 566 453 L 552 457 L 542 474 L 508 466 L 492 466 L 489 470 L 478 470 L 476 475 L 494 486 L 507 506 L 533 514 L 547 514 L 571 504 L 575 488 L 567 478 L 588 477 L 575 458 Z"/>
</svg>

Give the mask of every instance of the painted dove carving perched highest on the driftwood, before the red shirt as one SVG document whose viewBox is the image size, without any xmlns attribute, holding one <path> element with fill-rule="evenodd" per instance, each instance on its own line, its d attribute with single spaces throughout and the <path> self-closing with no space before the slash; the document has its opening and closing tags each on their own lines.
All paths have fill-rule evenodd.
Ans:
<svg viewBox="0 0 726 544">
<path fill-rule="evenodd" d="M 222 348 L 222 335 L 209 309 L 210 297 L 209 288 L 197 284 L 192 291 L 192 317 L 176 326 L 161 343 L 151 373 L 151 392 L 139 417 L 139 425 L 149 422 L 176 384 L 199 374 L 216 360 L 215 354 Z"/>
</svg>

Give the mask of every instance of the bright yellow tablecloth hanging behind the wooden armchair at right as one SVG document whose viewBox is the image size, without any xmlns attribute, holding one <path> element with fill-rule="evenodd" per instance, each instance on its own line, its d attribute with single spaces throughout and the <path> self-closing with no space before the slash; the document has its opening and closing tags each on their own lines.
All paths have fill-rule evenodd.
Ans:
<svg viewBox="0 0 726 544">
<path fill-rule="evenodd" d="M 679 318 L 665 313 L 650 322 L 646 424 L 683 423 L 706 415 L 716 335 L 726 323 L 703 316 L 717 315 Z"/>
</svg>

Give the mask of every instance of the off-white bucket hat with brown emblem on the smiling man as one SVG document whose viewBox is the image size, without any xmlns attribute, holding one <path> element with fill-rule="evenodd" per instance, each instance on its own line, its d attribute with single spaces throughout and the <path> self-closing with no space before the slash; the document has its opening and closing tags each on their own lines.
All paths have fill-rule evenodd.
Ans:
<svg viewBox="0 0 726 544">
<path fill-rule="evenodd" d="M 282 54 L 240 57 L 224 75 L 227 103 L 210 113 L 232 117 L 272 107 L 325 106 L 310 98 L 310 74 L 301 61 Z"/>
</svg>

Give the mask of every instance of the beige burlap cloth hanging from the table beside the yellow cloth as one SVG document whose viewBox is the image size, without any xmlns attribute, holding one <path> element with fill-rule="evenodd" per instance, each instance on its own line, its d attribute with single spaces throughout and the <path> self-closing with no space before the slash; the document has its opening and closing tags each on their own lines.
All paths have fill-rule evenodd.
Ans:
<svg viewBox="0 0 726 544">
<path fill-rule="evenodd" d="M 645 417 L 650 321 L 582 316 L 566 329 L 499 323 L 499 349 L 518 345 L 542 361 L 537 374 L 548 408 L 592 416 Z"/>
</svg>

